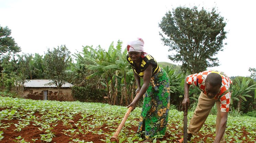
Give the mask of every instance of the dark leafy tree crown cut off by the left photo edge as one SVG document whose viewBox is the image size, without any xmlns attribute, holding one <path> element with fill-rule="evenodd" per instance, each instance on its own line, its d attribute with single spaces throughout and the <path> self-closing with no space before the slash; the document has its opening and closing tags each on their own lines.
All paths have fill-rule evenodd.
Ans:
<svg viewBox="0 0 256 143">
<path fill-rule="evenodd" d="M 21 51 L 21 48 L 10 35 L 11 29 L 0 25 L 0 57 L 5 53 L 15 54 Z"/>
</svg>

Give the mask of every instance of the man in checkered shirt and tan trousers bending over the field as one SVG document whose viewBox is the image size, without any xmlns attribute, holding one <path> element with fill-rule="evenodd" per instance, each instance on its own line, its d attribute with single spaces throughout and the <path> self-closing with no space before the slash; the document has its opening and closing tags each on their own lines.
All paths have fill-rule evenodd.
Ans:
<svg viewBox="0 0 256 143">
<path fill-rule="evenodd" d="M 207 119 L 211 108 L 216 103 L 218 107 L 216 118 L 216 138 L 214 143 L 224 142 L 226 123 L 230 105 L 231 93 L 229 91 L 232 81 L 226 74 L 219 71 L 203 71 L 186 77 L 184 85 L 183 110 L 189 106 L 189 86 L 198 86 L 201 94 L 198 98 L 197 108 L 188 127 L 188 141 L 196 135 Z"/>
</svg>

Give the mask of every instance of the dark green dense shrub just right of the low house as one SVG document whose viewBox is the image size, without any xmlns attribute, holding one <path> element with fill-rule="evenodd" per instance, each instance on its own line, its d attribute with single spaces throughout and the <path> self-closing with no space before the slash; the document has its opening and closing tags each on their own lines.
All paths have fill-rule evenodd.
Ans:
<svg viewBox="0 0 256 143">
<path fill-rule="evenodd" d="M 73 86 L 72 95 L 81 102 L 102 102 L 104 101 L 104 96 L 107 95 L 107 91 L 92 86 Z"/>
</svg>

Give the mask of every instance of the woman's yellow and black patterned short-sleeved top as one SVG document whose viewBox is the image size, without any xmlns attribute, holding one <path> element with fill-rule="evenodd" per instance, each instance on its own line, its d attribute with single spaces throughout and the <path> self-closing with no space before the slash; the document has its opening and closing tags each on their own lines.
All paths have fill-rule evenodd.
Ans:
<svg viewBox="0 0 256 143">
<path fill-rule="evenodd" d="M 136 65 L 135 63 L 133 63 L 133 61 L 131 60 L 131 58 L 129 56 L 126 57 L 127 61 L 131 64 L 131 67 L 133 69 L 133 71 L 139 75 L 140 77 L 143 77 L 144 75 L 144 71 L 147 69 L 147 67 L 149 66 L 149 64 L 152 65 L 153 67 L 153 70 L 152 70 L 152 76 L 155 75 L 158 70 L 159 70 L 159 65 L 158 63 L 156 62 L 156 60 L 150 56 L 150 55 L 147 55 L 146 57 L 142 58 L 142 61 L 141 61 L 141 64 L 140 64 L 140 67 L 139 69 L 136 69 Z"/>
</svg>

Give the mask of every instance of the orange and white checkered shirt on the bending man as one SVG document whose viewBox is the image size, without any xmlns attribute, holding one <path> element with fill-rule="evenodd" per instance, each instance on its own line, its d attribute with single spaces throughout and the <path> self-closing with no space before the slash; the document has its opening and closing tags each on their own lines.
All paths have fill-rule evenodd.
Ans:
<svg viewBox="0 0 256 143">
<path fill-rule="evenodd" d="M 215 99 L 220 99 L 221 103 L 221 112 L 229 112 L 229 105 L 230 105 L 230 98 L 231 98 L 231 93 L 229 91 L 230 84 L 232 81 L 230 78 L 221 71 L 203 71 L 195 74 L 188 75 L 187 77 L 187 84 L 189 85 L 195 85 L 199 87 L 204 94 L 206 94 L 205 91 L 205 80 L 208 74 L 210 73 L 218 73 L 222 77 L 222 85 L 220 87 L 220 94 L 217 97 L 214 97 Z"/>
</svg>

